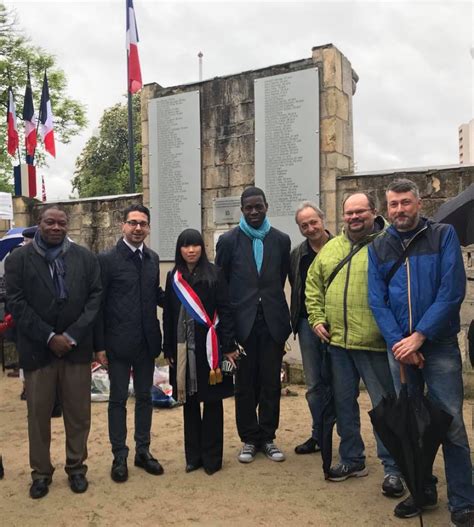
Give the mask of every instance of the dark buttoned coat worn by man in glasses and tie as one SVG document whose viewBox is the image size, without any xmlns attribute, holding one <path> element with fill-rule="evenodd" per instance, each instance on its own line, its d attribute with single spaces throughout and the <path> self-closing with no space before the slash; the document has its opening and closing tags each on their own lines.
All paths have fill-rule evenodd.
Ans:
<svg viewBox="0 0 474 527">
<path fill-rule="evenodd" d="M 145 351 L 161 352 L 157 305 L 163 305 L 160 259 L 143 247 L 142 270 L 133 261 L 132 250 L 119 240 L 110 251 L 99 254 L 104 299 L 96 327 L 95 349 L 109 358 L 131 360 Z"/>
</svg>

